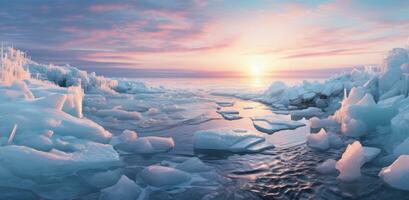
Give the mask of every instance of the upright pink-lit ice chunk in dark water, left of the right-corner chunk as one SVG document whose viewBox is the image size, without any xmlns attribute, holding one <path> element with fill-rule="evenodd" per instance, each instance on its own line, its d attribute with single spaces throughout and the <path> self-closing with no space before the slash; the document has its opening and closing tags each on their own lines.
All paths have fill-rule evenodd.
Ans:
<svg viewBox="0 0 409 200">
<path fill-rule="evenodd" d="M 354 181 L 361 176 L 361 166 L 365 162 L 365 154 L 361 143 L 355 141 L 348 145 L 336 168 L 340 172 L 337 177 L 342 181 Z"/>
</svg>

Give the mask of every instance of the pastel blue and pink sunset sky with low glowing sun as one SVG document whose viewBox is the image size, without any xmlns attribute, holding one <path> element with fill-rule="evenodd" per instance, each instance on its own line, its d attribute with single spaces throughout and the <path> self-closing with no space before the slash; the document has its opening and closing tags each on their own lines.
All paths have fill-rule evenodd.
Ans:
<svg viewBox="0 0 409 200">
<path fill-rule="evenodd" d="M 407 47 L 409 1 L 0 0 L 0 41 L 97 72 L 331 72 Z"/>
</svg>

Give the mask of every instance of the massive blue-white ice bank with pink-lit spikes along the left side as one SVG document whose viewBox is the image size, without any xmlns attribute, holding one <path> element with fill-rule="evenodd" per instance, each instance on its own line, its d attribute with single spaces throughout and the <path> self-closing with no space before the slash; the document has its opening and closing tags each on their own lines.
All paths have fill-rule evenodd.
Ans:
<svg viewBox="0 0 409 200">
<path fill-rule="evenodd" d="M 76 199 L 114 185 L 122 161 L 112 134 L 82 113 L 83 88 L 103 91 L 104 78 L 37 64 L 13 48 L 0 63 L 0 186 L 35 194 L 21 192 L 27 199 Z"/>
</svg>

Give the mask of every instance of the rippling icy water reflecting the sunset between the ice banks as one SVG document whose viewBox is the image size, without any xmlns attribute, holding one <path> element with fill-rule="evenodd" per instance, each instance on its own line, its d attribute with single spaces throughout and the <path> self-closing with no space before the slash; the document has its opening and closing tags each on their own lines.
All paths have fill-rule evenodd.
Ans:
<svg viewBox="0 0 409 200">
<path fill-rule="evenodd" d="M 381 164 L 365 164 L 362 178 L 354 183 L 336 180 L 337 174 L 323 175 L 317 172 L 315 168 L 319 163 L 329 158 L 338 160 L 344 149 L 320 152 L 308 148 L 305 145 L 308 125 L 271 135 L 262 133 L 266 142 L 275 148 L 259 153 L 194 150 L 193 133 L 199 130 L 240 128 L 258 132 L 252 118 L 274 113 L 268 106 L 257 102 L 188 90 L 123 98 L 105 97 L 106 101 L 101 101 L 103 103 L 100 105 L 95 100 L 101 97 L 86 96 L 85 100 L 87 98 L 93 103 L 85 103 L 90 107 L 86 109 L 85 115 L 114 134 L 130 129 L 135 130 L 138 137 L 168 136 L 174 139 L 175 148 L 167 153 L 121 154 L 125 161 L 125 175 L 145 188 L 146 199 L 409 199 L 407 192 L 391 189 L 377 177 Z M 95 110 L 101 108 L 136 111 L 141 113 L 141 118 L 117 119 L 98 115 Z M 238 111 L 241 118 L 225 119 L 220 115 L 221 109 Z M 291 119 L 286 115 L 280 117 Z M 305 120 L 300 122 L 306 123 Z M 198 157 L 215 169 L 216 173 L 200 174 L 211 181 L 152 189 L 141 178 L 141 173 L 148 166 L 180 163 L 191 157 Z M 98 194 L 84 198 L 97 197 Z"/>
</svg>

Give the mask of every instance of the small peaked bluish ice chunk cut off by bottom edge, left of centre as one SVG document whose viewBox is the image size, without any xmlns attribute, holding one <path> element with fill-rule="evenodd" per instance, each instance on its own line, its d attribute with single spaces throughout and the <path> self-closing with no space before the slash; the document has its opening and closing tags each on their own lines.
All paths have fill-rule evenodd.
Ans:
<svg viewBox="0 0 409 200">
<path fill-rule="evenodd" d="M 125 175 L 108 188 L 101 190 L 99 200 L 135 200 L 141 194 L 141 188 Z"/>
</svg>

